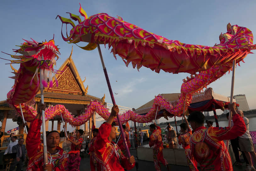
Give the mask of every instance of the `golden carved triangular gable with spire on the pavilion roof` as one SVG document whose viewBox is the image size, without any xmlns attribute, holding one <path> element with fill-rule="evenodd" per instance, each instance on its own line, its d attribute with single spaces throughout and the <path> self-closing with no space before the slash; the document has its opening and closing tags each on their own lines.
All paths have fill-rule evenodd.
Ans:
<svg viewBox="0 0 256 171">
<path fill-rule="evenodd" d="M 70 57 L 66 59 L 66 61 L 62 64 L 62 66 L 58 69 L 62 71 L 60 74 L 56 74 L 58 80 L 58 87 L 56 86 L 56 82 L 53 82 L 53 87 L 49 88 L 48 91 L 65 91 L 67 93 L 81 93 L 87 94 L 88 85 L 84 87 L 84 81 L 81 80 L 81 77 L 76 69 L 75 63 L 72 60 L 72 52 L 73 46 L 70 53 Z"/>
</svg>

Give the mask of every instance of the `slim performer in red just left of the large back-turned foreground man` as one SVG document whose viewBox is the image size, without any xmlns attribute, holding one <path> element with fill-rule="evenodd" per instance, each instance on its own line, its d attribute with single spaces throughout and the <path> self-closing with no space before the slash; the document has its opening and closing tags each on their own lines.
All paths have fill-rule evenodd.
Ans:
<svg viewBox="0 0 256 171">
<path fill-rule="evenodd" d="M 188 121 L 184 114 L 184 119 L 186 123 L 180 124 L 181 127 L 181 135 L 179 136 L 179 144 L 182 144 L 182 147 L 185 149 L 185 154 L 187 158 L 187 164 L 191 171 L 198 171 L 197 169 L 197 162 L 195 161 L 194 157 L 191 156 L 190 150 L 190 137 L 192 135 L 192 130 L 189 127 Z"/>
</svg>

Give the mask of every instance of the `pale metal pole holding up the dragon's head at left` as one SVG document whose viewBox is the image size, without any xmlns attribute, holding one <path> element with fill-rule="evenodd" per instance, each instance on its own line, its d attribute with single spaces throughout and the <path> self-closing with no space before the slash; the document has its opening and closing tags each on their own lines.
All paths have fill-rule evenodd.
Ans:
<svg viewBox="0 0 256 171">
<path fill-rule="evenodd" d="M 43 91 L 42 79 L 43 79 L 43 69 L 40 69 L 41 102 L 42 102 L 42 104 L 44 104 L 44 97 L 43 97 L 43 92 L 44 91 Z M 44 156 L 44 164 L 48 164 L 44 110 L 42 110 L 42 127 L 43 127 L 43 156 Z"/>
</svg>

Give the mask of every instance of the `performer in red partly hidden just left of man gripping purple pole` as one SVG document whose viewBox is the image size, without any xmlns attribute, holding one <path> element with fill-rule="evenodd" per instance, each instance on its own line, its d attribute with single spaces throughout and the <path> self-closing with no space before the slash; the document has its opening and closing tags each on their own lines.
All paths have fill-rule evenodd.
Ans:
<svg viewBox="0 0 256 171">
<path fill-rule="evenodd" d="M 96 170 L 95 168 L 97 167 L 97 162 L 95 160 L 95 153 L 94 153 L 94 151 L 95 151 L 94 143 L 96 141 L 98 131 L 99 130 L 97 128 L 95 128 L 95 126 L 94 126 L 94 129 L 92 130 L 92 136 L 93 137 L 92 137 L 92 140 L 91 140 L 91 143 L 90 143 L 90 146 L 89 146 L 91 171 L 95 171 Z"/>
</svg>

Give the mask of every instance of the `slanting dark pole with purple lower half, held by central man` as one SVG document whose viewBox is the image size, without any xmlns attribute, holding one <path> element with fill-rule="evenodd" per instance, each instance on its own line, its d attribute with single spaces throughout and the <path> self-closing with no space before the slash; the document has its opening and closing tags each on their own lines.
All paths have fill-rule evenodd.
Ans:
<svg viewBox="0 0 256 171">
<path fill-rule="evenodd" d="M 102 67 L 103 67 L 103 71 L 104 71 L 104 74 L 105 74 L 105 77 L 106 77 L 106 81 L 107 81 L 107 84 L 108 84 L 108 87 L 109 87 L 110 97 L 111 97 L 113 105 L 115 105 L 116 103 L 115 103 L 113 91 L 111 89 L 111 85 L 110 85 L 110 82 L 109 82 L 109 76 L 108 76 L 108 73 L 107 73 L 107 69 L 106 69 L 104 61 L 103 61 L 102 53 L 101 53 L 101 50 L 100 50 L 100 45 L 97 44 L 97 47 L 98 47 L 98 51 L 99 51 L 99 55 L 100 55 L 100 59 L 101 59 Z M 117 121 L 118 121 L 118 124 L 119 124 L 121 135 L 122 135 L 122 137 L 124 139 L 125 150 L 127 152 L 128 157 L 131 157 L 131 154 L 130 154 L 130 151 L 129 151 L 129 148 L 128 148 L 128 145 L 127 145 L 127 142 L 126 142 L 126 139 L 125 139 L 125 134 L 124 134 L 124 130 L 123 130 L 123 127 L 122 127 L 122 123 L 121 123 L 119 114 L 117 114 L 116 117 L 117 117 Z"/>
</svg>

